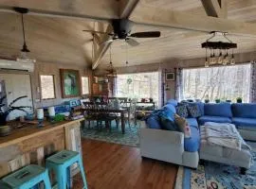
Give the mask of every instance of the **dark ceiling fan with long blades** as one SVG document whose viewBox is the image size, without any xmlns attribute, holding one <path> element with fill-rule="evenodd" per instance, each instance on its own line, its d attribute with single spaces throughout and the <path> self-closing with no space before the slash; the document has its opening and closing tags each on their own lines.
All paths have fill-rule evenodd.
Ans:
<svg viewBox="0 0 256 189">
<path fill-rule="evenodd" d="M 112 36 L 111 40 L 108 40 L 103 43 L 113 43 L 114 40 L 124 40 L 126 43 L 131 46 L 137 46 L 139 43 L 134 38 L 159 38 L 161 33 L 160 31 L 145 31 L 145 32 L 136 32 L 131 33 L 133 22 L 128 19 L 113 19 L 112 27 L 114 33 L 107 33 L 102 31 L 94 31 L 94 30 L 82 30 L 85 32 L 91 33 L 99 33 L 99 34 L 107 34 Z"/>
</svg>

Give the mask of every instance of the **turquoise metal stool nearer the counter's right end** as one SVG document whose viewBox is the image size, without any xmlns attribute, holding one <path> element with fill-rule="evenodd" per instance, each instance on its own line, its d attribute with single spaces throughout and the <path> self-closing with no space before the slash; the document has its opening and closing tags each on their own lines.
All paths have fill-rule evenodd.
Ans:
<svg viewBox="0 0 256 189">
<path fill-rule="evenodd" d="M 46 159 L 46 167 L 48 169 L 53 169 L 57 176 L 58 189 L 66 189 L 66 187 L 68 189 L 71 188 L 69 167 L 74 163 L 79 164 L 83 181 L 83 189 L 87 189 L 82 157 L 79 152 L 63 150 Z"/>
</svg>

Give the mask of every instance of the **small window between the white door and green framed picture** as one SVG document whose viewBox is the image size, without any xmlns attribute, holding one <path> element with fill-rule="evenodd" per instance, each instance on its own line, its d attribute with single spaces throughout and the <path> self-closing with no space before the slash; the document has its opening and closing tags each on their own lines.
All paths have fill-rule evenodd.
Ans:
<svg viewBox="0 0 256 189">
<path fill-rule="evenodd" d="M 42 99 L 55 98 L 54 76 L 40 76 Z"/>
</svg>

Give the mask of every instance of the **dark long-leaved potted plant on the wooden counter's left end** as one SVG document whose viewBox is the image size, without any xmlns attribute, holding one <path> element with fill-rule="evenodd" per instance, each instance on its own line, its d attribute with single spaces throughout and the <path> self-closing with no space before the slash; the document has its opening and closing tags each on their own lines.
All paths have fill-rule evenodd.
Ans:
<svg viewBox="0 0 256 189">
<path fill-rule="evenodd" d="M 18 107 L 13 106 L 13 104 L 15 102 L 17 102 L 18 100 L 20 100 L 22 98 L 26 98 L 26 97 L 27 97 L 27 95 L 17 97 L 16 99 L 14 99 L 12 102 L 9 103 L 9 107 L 6 108 L 6 110 L 4 110 L 4 108 L 3 108 L 6 106 L 6 104 L 4 104 L 3 101 L 7 98 L 7 95 L 4 95 L 2 98 L 0 98 L 0 136 L 9 135 L 10 128 L 9 128 L 9 126 L 7 126 L 7 117 L 10 112 L 12 112 L 12 111 L 27 112 L 24 110 L 25 108 L 31 109 L 31 107 L 29 107 L 29 106 L 18 106 Z"/>
</svg>

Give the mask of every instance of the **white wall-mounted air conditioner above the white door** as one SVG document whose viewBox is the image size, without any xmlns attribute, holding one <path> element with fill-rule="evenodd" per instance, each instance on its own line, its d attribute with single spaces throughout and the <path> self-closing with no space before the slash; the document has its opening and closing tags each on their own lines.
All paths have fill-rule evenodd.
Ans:
<svg viewBox="0 0 256 189">
<path fill-rule="evenodd" d="M 0 60 L 0 70 L 18 70 L 18 71 L 34 71 L 34 62 L 30 61 L 15 61 L 15 60 Z"/>
</svg>

